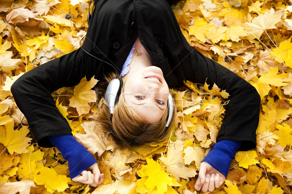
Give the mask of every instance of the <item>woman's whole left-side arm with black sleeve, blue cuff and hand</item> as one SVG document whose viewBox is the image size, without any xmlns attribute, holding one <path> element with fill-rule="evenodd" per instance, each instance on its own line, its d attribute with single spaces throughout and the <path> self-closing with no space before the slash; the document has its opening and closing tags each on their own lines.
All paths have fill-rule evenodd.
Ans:
<svg viewBox="0 0 292 194">
<path fill-rule="evenodd" d="M 78 49 L 32 69 L 11 87 L 18 108 L 27 118 L 38 145 L 56 146 L 68 161 L 71 178 L 92 186 L 103 181 L 96 160 L 74 139 L 51 93 L 64 86 L 76 85 L 85 76 L 91 78 L 99 68 L 98 62 Z"/>
</svg>

